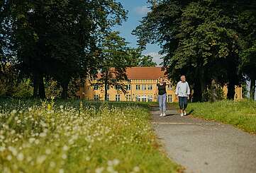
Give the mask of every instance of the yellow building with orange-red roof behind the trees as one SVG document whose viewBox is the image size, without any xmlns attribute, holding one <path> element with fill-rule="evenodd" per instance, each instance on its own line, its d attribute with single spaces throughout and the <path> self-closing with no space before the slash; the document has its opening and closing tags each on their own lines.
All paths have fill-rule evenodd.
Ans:
<svg viewBox="0 0 256 173">
<path fill-rule="evenodd" d="M 133 101 L 133 102 L 156 102 L 154 97 L 157 89 L 157 80 L 160 76 L 166 76 L 166 71 L 162 71 L 161 67 L 132 67 L 127 68 L 126 75 L 128 81 L 124 81 L 127 93 L 124 94 L 118 88 L 108 88 L 109 101 Z M 97 79 L 89 80 L 79 88 L 77 96 L 86 100 L 104 100 L 104 87 L 96 85 Z M 175 87 L 175 86 L 174 86 Z M 167 86 L 167 102 L 177 102 L 175 98 L 175 88 L 172 85 Z M 227 88 L 223 88 L 227 93 Z M 235 89 L 235 99 L 242 98 L 242 89 Z"/>
</svg>

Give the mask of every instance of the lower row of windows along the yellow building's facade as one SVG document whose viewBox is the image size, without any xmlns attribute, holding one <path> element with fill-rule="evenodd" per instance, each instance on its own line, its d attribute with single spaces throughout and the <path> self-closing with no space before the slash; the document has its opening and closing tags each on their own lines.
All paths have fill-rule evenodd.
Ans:
<svg viewBox="0 0 256 173">
<path fill-rule="evenodd" d="M 136 95 L 135 96 L 137 102 L 152 102 L 153 97 L 152 95 Z M 99 100 L 99 95 L 94 95 L 94 100 Z M 109 100 L 109 95 L 107 95 L 107 100 Z M 121 100 L 121 95 L 116 95 L 116 102 L 120 102 Z M 126 101 L 132 101 L 131 95 L 126 95 Z M 172 102 L 172 95 L 167 95 L 167 102 Z"/>
</svg>

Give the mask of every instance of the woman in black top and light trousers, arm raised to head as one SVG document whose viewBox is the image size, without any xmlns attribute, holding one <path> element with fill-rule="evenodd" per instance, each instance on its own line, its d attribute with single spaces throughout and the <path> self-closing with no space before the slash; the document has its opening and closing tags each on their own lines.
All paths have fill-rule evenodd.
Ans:
<svg viewBox="0 0 256 173">
<path fill-rule="evenodd" d="M 159 104 L 159 109 L 160 109 L 160 117 L 166 116 L 166 85 L 170 85 L 171 83 L 167 78 L 158 78 L 158 83 L 157 83 L 157 89 L 155 90 L 155 97 L 158 92 L 158 104 Z"/>
</svg>

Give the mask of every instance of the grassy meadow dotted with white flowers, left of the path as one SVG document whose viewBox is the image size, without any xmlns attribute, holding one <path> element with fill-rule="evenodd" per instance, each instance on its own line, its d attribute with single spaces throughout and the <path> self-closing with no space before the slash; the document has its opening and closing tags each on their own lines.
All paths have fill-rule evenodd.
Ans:
<svg viewBox="0 0 256 173">
<path fill-rule="evenodd" d="M 179 172 L 149 105 L 0 100 L 0 172 Z"/>
</svg>

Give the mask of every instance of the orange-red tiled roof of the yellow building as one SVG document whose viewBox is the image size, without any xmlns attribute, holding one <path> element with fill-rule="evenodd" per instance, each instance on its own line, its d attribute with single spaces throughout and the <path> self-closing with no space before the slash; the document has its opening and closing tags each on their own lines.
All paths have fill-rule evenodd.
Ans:
<svg viewBox="0 0 256 173">
<path fill-rule="evenodd" d="M 113 69 L 111 69 L 112 71 Z M 160 76 L 165 76 L 166 71 L 162 67 L 130 67 L 126 68 L 128 79 L 158 79 Z M 98 74 L 100 78 L 101 74 Z"/>
</svg>

